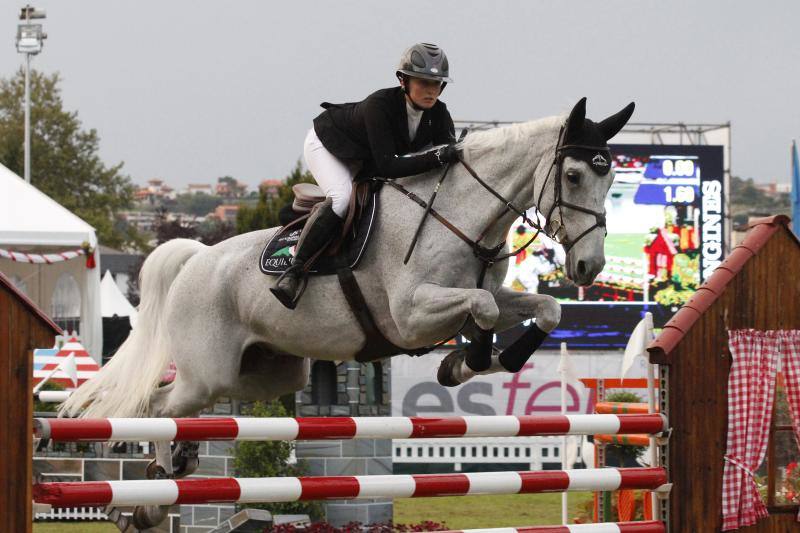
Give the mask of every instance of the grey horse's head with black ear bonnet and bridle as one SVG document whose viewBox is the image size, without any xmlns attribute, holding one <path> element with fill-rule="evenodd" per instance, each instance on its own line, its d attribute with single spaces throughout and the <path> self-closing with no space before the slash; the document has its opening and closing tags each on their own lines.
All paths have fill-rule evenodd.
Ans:
<svg viewBox="0 0 800 533">
<path fill-rule="evenodd" d="M 582 98 L 563 123 L 553 165 L 536 203 L 547 218 L 547 232 L 562 243 L 566 274 L 579 285 L 591 285 L 605 266 L 605 199 L 614 171 L 608 141 L 633 114 L 631 102 L 620 112 L 593 122 Z"/>
</svg>

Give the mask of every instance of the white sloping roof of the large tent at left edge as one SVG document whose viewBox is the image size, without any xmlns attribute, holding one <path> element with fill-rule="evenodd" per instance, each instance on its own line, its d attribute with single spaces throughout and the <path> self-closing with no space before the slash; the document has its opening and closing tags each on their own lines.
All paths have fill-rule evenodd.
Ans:
<svg viewBox="0 0 800 533">
<path fill-rule="evenodd" d="M 0 165 L 0 246 L 95 246 L 94 228 Z"/>
</svg>

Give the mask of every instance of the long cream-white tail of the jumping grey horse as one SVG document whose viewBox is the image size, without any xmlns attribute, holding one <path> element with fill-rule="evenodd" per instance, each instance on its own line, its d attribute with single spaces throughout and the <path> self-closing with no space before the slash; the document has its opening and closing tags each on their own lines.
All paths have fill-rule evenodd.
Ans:
<svg viewBox="0 0 800 533">
<path fill-rule="evenodd" d="M 142 265 L 141 302 L 136 327 L 114 357 L 81 385 L 60 413 L 84 417 L 139 417 L 148 414 L 150 396 L 170 362 L 163 332 L 164 303 L 183 265 L 205 245 L 190 239 L 165 242 Z"/>
</svg>

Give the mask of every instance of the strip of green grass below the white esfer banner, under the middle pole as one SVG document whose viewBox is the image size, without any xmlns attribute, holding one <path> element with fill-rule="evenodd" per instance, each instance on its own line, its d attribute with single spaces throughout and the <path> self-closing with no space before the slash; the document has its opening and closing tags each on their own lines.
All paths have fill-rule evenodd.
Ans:
<svg viewBox="0 0 800 533">
<path fill-rule="evenodd" d="M 592 499 L 590 492 L 569 495 L 569 517 Z M 561 523 L 561 494 L 514 494 L 413 498 L 394 501 L 395 524 L 444 522 L 450 529 L 535 526 Z"/>
</svg>

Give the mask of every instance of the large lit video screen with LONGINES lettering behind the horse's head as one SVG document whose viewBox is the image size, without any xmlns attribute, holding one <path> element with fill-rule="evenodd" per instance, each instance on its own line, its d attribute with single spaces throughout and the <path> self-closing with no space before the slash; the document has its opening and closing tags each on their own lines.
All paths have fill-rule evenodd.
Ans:
<svg viewBox="0 0 800 533">
<path fill-rule="evenodd" d="M 606 199 L 606 266 L 590 287 L 566 279 L 561 246 L 540 236 L 512 258 L 505 284 L 549 294 L 562 321 L 546 341 L 557 348 L 622 348 L 646 312 L 662 327 L 724 259 L 722 146 L 612 145 L 614 183 Z M 515 224 L 514 250 L 533 229 Z M 523 327 L 501 334 L 506 346 Z"/>
</svg>

